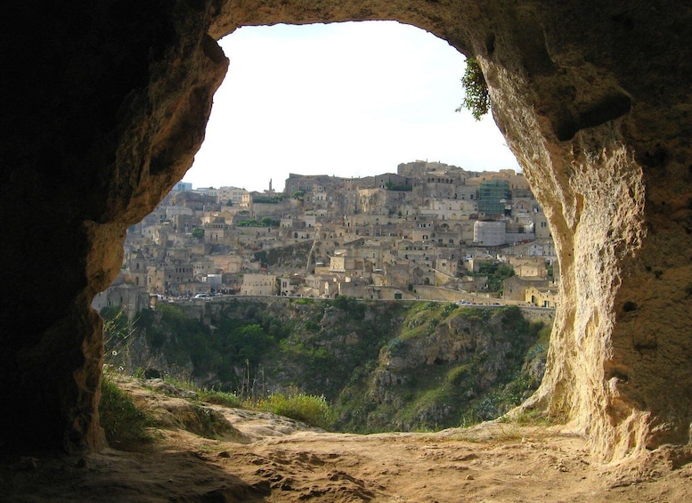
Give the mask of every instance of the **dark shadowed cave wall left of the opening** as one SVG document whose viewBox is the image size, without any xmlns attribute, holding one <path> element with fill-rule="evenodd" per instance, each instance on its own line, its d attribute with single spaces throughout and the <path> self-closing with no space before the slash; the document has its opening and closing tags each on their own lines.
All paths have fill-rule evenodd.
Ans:
<svg viewBox="0 0 692 503">
<path fill-rule="evenodd" d="M 6 7 L 0 444 L 84 450 L 127 226 L 183 177 L 227 59 L 205 3 Z"/>
</svg>

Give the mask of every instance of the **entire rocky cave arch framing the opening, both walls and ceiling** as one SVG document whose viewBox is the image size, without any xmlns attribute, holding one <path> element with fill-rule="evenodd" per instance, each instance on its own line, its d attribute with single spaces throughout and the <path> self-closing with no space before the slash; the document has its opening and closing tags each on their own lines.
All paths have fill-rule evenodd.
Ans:
<svg viewBox="0 0 692 503">
<path fill-rule="evenodd" d="M 182 178 L 243 25 L 399 20 L 484 70 L 563 275 L 527 407 L 623 458 L 689 446 L 692 12 L 672 2 L 98 0 L 6 9 L 5 443 L 98 449 L 101 321 L 127 225 Z M 5 408 L 7 410 L 8 407 Z"/>
</svg>

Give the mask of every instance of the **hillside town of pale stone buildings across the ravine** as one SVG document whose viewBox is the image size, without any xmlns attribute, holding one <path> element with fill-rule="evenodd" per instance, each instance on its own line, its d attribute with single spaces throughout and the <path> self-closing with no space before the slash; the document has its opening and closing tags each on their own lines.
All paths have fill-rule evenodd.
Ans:
<svg viewBox="0 0 692 503">
<path fill-rule="evenodd" d="M 558 304 L 558 261 L 521 173 L 400 164 L 359 178 L 289 174 L 282 191 L 177 183 L 126 235 L 94 308 L 133 315 L 217 296 Z"/>
</svg>

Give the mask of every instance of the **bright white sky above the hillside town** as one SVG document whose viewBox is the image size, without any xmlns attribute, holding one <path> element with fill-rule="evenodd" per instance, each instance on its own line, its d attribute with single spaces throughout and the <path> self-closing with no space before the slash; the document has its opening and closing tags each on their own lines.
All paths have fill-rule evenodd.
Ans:
<svg viewBox="0 0 692 503">
<path fill-rule="evenodd" d="M 520 169 L 493 118 L 463 100 L 464 56 L 395 21 L 243 27 L 220 41 L 230 60 L 193 188 L 282 191 L 289 173 L 396 173 L 439 161 L 471 171 Z"/>
</svg>

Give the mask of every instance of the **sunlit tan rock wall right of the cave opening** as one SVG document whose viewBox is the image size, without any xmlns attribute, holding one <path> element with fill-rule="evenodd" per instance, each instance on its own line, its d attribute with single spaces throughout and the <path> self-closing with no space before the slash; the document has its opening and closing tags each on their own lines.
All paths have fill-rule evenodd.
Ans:
<svg viewBox="0 0 692 503">
<path fill-rule="evenodd" d="M 561 264 L 531 405 L 572 421 L 606 459 L 689 442 L 689 16 L 525 7 L 475 37 Z"/>
</svg>

